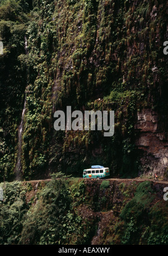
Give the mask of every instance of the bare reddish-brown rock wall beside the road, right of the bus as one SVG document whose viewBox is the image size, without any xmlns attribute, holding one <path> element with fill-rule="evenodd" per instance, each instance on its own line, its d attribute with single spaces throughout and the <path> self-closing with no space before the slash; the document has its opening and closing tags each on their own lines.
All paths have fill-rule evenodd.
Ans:
<svg viewBox="0 0 168 256">
<path fill-rule="evenodd" d="M 160 176 L 167 174 L 168 167 L 168 132 L 159 124 L 156 111 L 143 109 L 137 113 L 135 129 L 139 131 L 136 140 L 137 147 L 141 150 L 141 162 L 144 173 Z"/>
</svg>

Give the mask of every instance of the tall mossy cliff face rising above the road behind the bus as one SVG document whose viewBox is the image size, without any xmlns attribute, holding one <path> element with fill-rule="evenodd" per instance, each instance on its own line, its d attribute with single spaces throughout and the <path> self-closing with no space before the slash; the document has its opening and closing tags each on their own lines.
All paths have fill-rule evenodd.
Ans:
<svg viewBox="0 0 168 256">
<path fill-rule="evenodd" d="M 21 31 L 26 34 L 28 54 L 22 42 L 22 52 L 15 55 L 18 70 L 11 77 L 17 81 L 20 74 L 24 80 L 20 82 L 21 92 L 10 97 L 12 102 L 16 100 L 21 113 L 20 99 L 26 92 L 21 161 L 24 178 L 45 177 L 55 171 L 81 176 L 83 168 L 95 163 L 108 166 L 113 175 L 133 177 L 148 172 L 150 158 L 144 170 L 139 166 L 142 154 L 136 140 L 141 134 L 135 125 L 137 113 L 150 109 L 156 112 L 161 132 L 167 130 L 164 0 L 38 0 L 29 2 L 25 9 L 18 4 L 18 13 L 24 10 L 19 22 L 25 29 Z M 2 16 L 1 36 L 11 54 L 8 57 L 4 52 L 3 60 L 15 61 L 13 44 L 9 43 L 11 34 L 15 35 L 13 19 L 7 14 Z M 18 49 L 20 39 L 15 41 Z M 3 67 L 8 68 L 4 65 L 1 70 Z M 4 93 L 3 100 L 7 97 Z M 16 110 L 15 105 L 11 106 L 8 102 L 7 107 Z M 72 111 L 114 110 L 114 136 L 105 138 L 100 131 L 54 131 L 55 110 L 66 112 L 67 106 L 72 106 Z M 1 176 L 5 173 L 11 177 L 17 162 L 16 131 L 20 120 L 14 113 L 14 121 L 8 119 L 8 125 L 5 113 L 1 115 L 0 130 L 4 145 Z M 7 129 L 11 126 L 12 132 Z M 151 153 L 149 149 L 147 156 Z M 167 151 L 164 154 L 166 157 Z M 153 156 L 158 157 L 156 152 Z M 166 165 L 159 170 L 163 175 Z"/>
</svg>

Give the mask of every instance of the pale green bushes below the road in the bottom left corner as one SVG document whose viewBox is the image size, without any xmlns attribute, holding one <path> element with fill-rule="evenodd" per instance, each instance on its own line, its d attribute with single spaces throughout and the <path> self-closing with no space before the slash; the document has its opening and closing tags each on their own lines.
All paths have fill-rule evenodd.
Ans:
<svg viewBox="0 0 168 256">
<path fill-rule="evenodd" d="M 1 184 L 4 201 L 0 202 L 0 243 L 17 244 L 22 230 L 22 222 L 28 210 L 26 190 L 21 182 Z"/>
</svg>

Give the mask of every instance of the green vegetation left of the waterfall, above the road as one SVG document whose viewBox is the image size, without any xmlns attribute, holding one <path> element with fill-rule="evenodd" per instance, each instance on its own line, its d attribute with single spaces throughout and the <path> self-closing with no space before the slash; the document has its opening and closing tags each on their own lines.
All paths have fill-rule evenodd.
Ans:
<svg viewBox="0 0 168 256">
<path fill-rule="evenodd" d="M 0 39 L 3 55 L 0 56 L 0 172 L 1 178 L 13 177 L 17 152 L 17 126 L 23 108 L 26 68 L 20 56 L 25 53 L 25 33 L 29 5 L 24 1 L 1 1 Z"/>
</svg>

